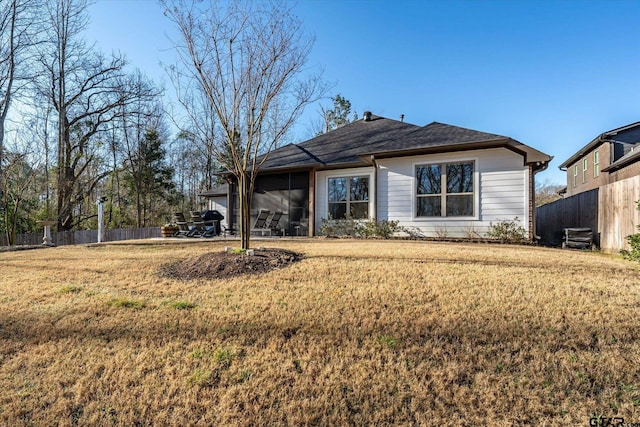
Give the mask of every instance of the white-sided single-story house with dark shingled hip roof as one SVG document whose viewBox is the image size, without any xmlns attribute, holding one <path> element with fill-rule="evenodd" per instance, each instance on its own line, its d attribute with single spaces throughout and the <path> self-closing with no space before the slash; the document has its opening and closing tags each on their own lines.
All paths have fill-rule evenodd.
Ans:
<svg viewBox="0 0 640 427">
<path fill-rule="evenodd" d="M 272 151 L 256 179 L 252 214 L 283 211 L 280 225 L 291 235 L 318 235 L 323 220 L 350 214 L 439 237 L 484 234 L 492 222 L 518 218 L 533 237 L 534 176 L 550 160 L 506 136 L 366 112 Z M 227 209 L 237 223 L 235 192 L 231 182 Z"/>
</svg>

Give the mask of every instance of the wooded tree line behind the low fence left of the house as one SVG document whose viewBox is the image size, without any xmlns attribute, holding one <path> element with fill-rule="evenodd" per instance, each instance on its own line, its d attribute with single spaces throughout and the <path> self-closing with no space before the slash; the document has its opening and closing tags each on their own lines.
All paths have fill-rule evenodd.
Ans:
<svg viewBox="0 0 640 427">
<path fill-rule="evenodd" d="M 88 6 L 0 0 L 0 232 L 10 242 L 38 220 L 96 228 L 98 197 L 107 198 L 107 227 L 159 225 L 198 207 L 223 167 L 212 144 L 219 123 L 210 135 L 172 132 L 163 90 L 123 54 L 86 40 Z M 195 103 L 191 95 L 181 99 Z M 187 113 L 198 115 L 191 124 L 208 119 Z"/>
</svg>

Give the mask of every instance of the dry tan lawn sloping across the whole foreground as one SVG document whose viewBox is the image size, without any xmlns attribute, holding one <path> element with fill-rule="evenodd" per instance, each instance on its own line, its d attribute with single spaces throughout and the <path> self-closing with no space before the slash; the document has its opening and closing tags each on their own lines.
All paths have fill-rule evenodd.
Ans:
<svg viewBox="0 0 640 427">
<path fill-rule="evenodd" d="M 1 253 L 0 425 L 640 422 L 637 263 L 481 244 L 270 246 L 306 258 L 181 283 L 157 268 L 224 243 Z"/>
</svg>

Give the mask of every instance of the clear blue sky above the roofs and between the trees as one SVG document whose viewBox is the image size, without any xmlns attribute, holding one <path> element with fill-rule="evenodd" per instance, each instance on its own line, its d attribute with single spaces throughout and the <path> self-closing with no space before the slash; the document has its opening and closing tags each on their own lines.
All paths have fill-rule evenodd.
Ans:
<svg viewBox="0 0 640 427">
<path fill-rule="evenodd" d="M 330 95 L 359 115 L 510 136 L 554 156 L 538 180 L 566 183 L 559 164 L 640 120 L 640 1 L 317 0 L 295 11 Z M 154 0 L 98 0 L 90 13 L 89 40 L 172 92 L 160 65 L 172 61 L 172 29 Z"/>
</svg>

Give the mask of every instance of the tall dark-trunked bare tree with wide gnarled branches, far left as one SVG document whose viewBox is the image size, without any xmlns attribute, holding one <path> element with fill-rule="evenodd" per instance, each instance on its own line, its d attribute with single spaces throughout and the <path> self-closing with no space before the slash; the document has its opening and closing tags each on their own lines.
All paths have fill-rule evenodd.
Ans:
<svg viewBox="0 0 640 427">
<path fill-rule="evenodd" d="M 46 78 L 40 91 L 52 104 L 57 118 L 57 220 L 58 230 L 70 230 L 83 218 L 74 206 L 84 194 L 110 173 L 98 171 L 97 139 L 118 118 L 121 107 L 141 94 L 124 72 L 125 58 L 102 55 L 87 45 L 86 0 L 47 3 L 48 37 L 40 63 Z M 93 171 L 92 177 L 85 176 Z M 81 185 L 82 184 L 82 185 Z"/>
</svg>

